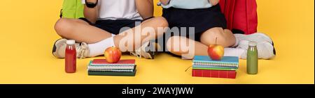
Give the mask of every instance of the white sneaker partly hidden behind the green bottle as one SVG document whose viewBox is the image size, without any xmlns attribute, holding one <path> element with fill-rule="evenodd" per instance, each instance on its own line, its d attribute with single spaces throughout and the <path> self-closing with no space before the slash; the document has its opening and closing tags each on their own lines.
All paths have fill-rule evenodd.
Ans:
<svg viewBox="0 0 315 98">
<path fill-rule="evenodd" d="M 241 59 L 247 58 L 247 49 L 248 49 L 248 40 L 241 40 L 239 41 L 239 45 L 237 48 L 244 49 L 243 54 L 241 54 Z M 258 50 L 258 58 L 260 59 L 271 59 L 276 56 L 276 52 L 274 51 L 274 46 L 267 41 L 257 43 L 257 50 Z"/>
</svg>

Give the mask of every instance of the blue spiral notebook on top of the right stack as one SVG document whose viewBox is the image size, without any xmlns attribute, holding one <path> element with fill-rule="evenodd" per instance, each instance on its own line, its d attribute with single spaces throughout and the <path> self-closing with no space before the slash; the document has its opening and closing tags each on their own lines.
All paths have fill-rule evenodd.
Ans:
<svg viewBox="0 0 315 98">
<path fill-rule="evenodd" d="M 224 56 L 222 60 L 212 60 L 209 56 L 195 56 L 193 60 L 193 65 L 238 67 L 239 57 Z"/>
</svg>

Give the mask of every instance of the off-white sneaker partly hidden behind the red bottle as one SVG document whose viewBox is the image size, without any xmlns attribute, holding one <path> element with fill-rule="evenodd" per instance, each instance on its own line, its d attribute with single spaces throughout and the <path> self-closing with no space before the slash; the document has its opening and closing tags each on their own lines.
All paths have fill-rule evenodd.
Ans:
<svg viewBox="0 0 315 98">
<path fill-rule="evenodd" d="M 89 56 L 90 50 L 85 42 L 76 43 L 76 58 L 85 58 Z M 66 39 L 62 38 L 55 42 L 52 47 L 52 55 L 56 58 L 64 58 L 66 52 Z"/>
</svg>

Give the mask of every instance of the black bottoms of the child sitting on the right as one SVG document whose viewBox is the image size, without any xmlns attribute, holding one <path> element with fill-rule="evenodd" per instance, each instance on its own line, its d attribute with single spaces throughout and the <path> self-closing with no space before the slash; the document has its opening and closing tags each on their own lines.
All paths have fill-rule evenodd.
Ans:
<svg viewBox="0 0 315 98">
<path fill-rule="evenodd" d="M 186 35 L 195 34 L 195 40 L 200 41 L 204 31 L 214 27 L 227 28 L 227 22 L 219 5 L 204 9 L 163 9 L 163 15 L 169 22 L 169 27 L 186 27 Z M 195 33 L 188 33 L 189 27 L 195 27 Z M 180 31 L 181 32 L 181 31 Z"/>
</svg>

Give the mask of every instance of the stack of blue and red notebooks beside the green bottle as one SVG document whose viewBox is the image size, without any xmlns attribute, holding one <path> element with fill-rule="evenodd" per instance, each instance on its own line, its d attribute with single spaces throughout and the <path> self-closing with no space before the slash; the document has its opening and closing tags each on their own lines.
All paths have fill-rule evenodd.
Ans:
<svg viewBox="0 0 315 98">
<path fill-rule="evenodd" d="M 222 60 L 212 60 L 209 56 L 195 56 L 193 60 L 193 76 L 214 78 L 236 78 L 239 58 L 225 56 Z"/>
</svg>

